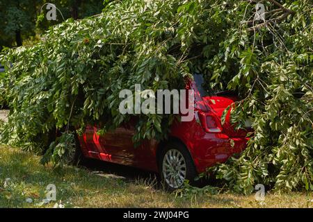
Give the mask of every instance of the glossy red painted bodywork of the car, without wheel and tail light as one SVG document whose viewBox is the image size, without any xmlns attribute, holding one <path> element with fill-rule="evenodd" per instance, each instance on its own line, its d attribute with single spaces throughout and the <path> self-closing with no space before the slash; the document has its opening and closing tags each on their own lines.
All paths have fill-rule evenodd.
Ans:
<svg viewBox="0 0 313 222">
<path fill-rule="evenodd" d="M 172 123 L 170 139 L 182 142 L 188 149 L 198 173 L 205 171 L 214 164 L 225 162 L 234 153 L 240 153 L 248 142 L 246 130 L 234 130 L 230 123 L 230 111 L 227 113 L 223 131 L 208 133 L 199 120 L 200 113 L 211 113 L 220 121 L 225 108 L 234 104 L 234 98 L 223 96 L 200 96 L 195 83 L 186 81 L 186 89 L 195 90 L 195 118 L 192 121 Z M 81 150 L 84 156 L 123 164 L 149 171 L 158 171 L 157 152 L 160 143 L 154 139 L 144 140 L 134 146 L 132 137 L 138 119 L 115 130 L 98 135 L 99 126 L 87 126 L 85 133 L 79 136 Z"/>
</svg>

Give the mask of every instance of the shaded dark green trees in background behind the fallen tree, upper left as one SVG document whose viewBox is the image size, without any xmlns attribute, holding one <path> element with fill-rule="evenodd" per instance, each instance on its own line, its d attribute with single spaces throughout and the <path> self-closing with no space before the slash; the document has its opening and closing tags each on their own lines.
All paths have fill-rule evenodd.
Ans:
<svg viewBox="0 0 313 222">
<path fill-rule="evenodd" d="M 58 8 L 56 21 L 46 19 L 46 3 L 54 3 Z M 45 33 L 49 26 L 70 17 L 80 19 L 99 14 L 102 8 L 103 2 L 97 0 L 0 0 L 0 51 L 3 46 L 22 46 L 24 40 Z"/>
</svg>

